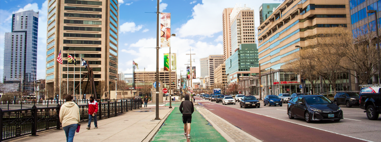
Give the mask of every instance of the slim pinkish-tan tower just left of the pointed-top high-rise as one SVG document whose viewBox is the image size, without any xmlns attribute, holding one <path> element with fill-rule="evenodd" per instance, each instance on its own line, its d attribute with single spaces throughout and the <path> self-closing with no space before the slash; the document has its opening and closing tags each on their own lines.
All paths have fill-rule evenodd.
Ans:
<svg viewBox="0 0 381 142">
<path fill-rule="evenodd" d="M 230 13 L 233 8 L 222 11 L 222 37 L 224 44 L 224 61 L 231 56 Z"/>
</svg>

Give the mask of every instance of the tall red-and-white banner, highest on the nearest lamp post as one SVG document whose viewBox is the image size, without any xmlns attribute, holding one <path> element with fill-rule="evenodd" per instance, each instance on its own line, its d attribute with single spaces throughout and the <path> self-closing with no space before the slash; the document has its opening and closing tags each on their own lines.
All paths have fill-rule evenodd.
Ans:
<svg viewBox="0 0 381 142">
<path fill-rule="evenodd" d="M 160 47 L 170 47 L 170 13 L 160 13 Z"/>
</svg>

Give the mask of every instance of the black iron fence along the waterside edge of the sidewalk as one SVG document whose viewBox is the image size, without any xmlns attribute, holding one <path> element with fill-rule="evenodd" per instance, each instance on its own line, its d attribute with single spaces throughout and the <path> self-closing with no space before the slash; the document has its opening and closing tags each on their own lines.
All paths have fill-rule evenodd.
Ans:
<svg viewBox="0 0 381 142">
<path fill-rule="evenodd" d="M 62 102 L 64 103 L 64 102 Z M 98 119 L 115 117 L 120 113 L 138 109 L 142 105 L 140 99 L 108 100 L 98 102 Z M 52 105 L 51 105 L 52 106 Z M 37 132 L 49 129 L 60 129 L 59 110 L 61 105 L 55 107 L 38 108 L 33 105 L 31 109 L 2 110 L 0 108 L 0 141 L 23 135 L 37 135 Z M 88 105 L 79 104 L 80 122 L 89 119 Z"/>
</svg>

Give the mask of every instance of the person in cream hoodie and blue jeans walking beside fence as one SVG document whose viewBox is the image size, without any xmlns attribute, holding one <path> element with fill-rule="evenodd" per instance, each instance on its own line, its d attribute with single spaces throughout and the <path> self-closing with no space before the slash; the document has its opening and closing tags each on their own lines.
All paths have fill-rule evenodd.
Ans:
<svg viewBox="0 0 381 142">
<path fill-rule="evenodd" d="M 73 96 L 66 95 L 66 102 L 59 110 L 59 121 L 62 123 L 66 134 L 66 141 L 72 142 L 80 121 L 78 105 L 73 102 Z"/>
</svg>

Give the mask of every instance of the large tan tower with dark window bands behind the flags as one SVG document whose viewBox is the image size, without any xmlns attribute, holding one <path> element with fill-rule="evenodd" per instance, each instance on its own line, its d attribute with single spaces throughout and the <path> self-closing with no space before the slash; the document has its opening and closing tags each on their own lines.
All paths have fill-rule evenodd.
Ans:
<svg viewBox="0 0 381 142">
<path fill-rule="evenodd" d="M 105 81 L 105 91 L 111 89 L 110 84 L 115 84 L 118 76 L 118 17 L 116 0 L 49 1 L 46 86 L 54 86 L 54 94 L 58 94 L 60 78 L 61 82 L 67 78 L 73 82 L 75 77 L 77 85 L 80 72 L 84 75 L 88 71 L 84 66 L 67 64 L 68 54 L 77 58 L 77 64 L 80 64 L 81 57 L 87 61 L 93 69 L 95 86 Z M 62 65 L 56 61 L 60 51 Z M 76 91 L 78 93 L 79 88 Z"/>
</svg>

